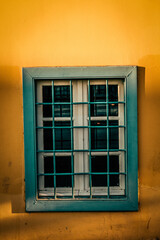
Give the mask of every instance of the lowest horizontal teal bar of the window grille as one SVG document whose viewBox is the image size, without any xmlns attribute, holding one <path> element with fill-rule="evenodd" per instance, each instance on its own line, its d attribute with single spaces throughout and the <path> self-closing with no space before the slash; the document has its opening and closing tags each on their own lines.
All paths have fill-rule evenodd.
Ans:
<svg viewBox="0 0 160 240">
<path fill-rule="evenodd" d="M 70 176 L 70 175 L 127 175 L 125 172 L 79 172 L 79 173 L 38 173 L 38 176 Z"/>
</svg>

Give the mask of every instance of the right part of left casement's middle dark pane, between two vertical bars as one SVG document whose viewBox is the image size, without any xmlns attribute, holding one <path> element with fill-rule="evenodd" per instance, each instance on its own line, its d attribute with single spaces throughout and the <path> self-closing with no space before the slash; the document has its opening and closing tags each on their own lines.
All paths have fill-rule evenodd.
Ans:
<svg viewBox="0 0 160 240">
<path fill-rule="evenodd" d="M 58 121 L 55 122 L 55 126 L 70 126 L 70 122 Z M 66 150 L 71 149 L 71 129 L 70 128 L 58 128 L 55 129 L 55 149 Z"/>
</svg>

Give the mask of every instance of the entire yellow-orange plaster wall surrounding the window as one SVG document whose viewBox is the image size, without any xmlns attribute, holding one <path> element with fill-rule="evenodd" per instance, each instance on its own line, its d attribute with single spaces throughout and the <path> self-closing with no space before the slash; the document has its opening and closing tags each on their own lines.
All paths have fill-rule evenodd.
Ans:
<svg viewBox="0 0 160 240">
<path fill-rule="evenodd" d="M 22 67 L 138 65 L 139 211 L 25 213 Z M 160 238 L 160 0 L 0 1 L 0 239 Z"/>
</svg>

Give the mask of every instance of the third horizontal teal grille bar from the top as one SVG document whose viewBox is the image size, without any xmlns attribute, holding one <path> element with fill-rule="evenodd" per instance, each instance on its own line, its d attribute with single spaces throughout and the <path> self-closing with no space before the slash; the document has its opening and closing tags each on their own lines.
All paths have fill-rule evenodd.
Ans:
<svg viewBox="0 0 160 240">
<path fill-rule="evenodd" d="M 73 150 L 37 150 L 38 153 L 54 153 L 54 152 L 126 152 L 126 149 L 73 149 Z"/>
</svg>

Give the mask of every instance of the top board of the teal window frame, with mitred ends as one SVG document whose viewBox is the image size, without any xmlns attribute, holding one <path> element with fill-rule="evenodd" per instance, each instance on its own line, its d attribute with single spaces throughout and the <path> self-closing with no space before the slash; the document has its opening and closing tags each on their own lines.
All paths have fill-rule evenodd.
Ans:
<svg viewBox="0 0 160 240">
<path fill-rule="evenodd" d="M 37 67 L 25 68 L 33 78 L 38 79 L 91 79 L 91 78 L 125 78 L 134 66 L 107 67 Z"/>
</svg>

